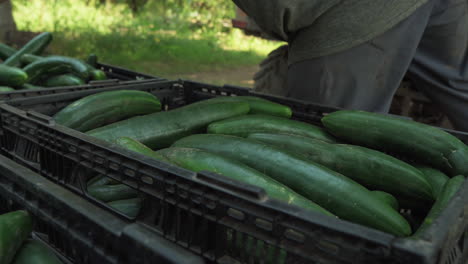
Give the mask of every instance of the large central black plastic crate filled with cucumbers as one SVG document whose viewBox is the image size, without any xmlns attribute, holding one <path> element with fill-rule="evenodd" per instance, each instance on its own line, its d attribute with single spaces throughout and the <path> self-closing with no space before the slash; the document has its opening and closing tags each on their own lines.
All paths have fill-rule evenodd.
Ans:
<svg viewBox="0 0 468 264">
<path fill-rule="evenodd" d="M 258 95 L 291 106 L 294 118 L 312 123 L 336 111 L 244 88 L 194 82 L 155 82 L 135 89 L 157 95 L 169 109 L 213 96 Z M 134 220 L 208 261 L 462 264 L 467 260 L 468 182 L 421 240 L 396 238 L 277 202 L 253 186 L 210 173 L 196 174 L 121 149 L 55 125 L 49 117 L 99 91 L 17 99 L 0 105 L 2 152 L 102 207 L 106 206 L 84 192 L 90 172 L 138 189 L 147 199 Z"/>
</svg>

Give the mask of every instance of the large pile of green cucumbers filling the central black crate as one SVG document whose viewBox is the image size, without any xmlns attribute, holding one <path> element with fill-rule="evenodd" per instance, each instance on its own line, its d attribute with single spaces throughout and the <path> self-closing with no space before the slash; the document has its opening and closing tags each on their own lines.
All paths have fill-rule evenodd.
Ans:
<svg viewBox="0 0 468 264">
<path fill-rule="evenodd" d="M 162 111 L 158 98 L 141 91 L 97 93 L 54 116 L 58 124 L 160 162 L 215 172 L 259 186 L 292 208 L 399 237 L 419 236 L 468 175 L 468 147 L 434 127 L 363 111 L 331 113 L 323 127 L 291 117 L 289 107 L 249 96 Z M 138 193 L 99 177 L 89 181 L 88 193 L 125 203 L 118 210 L 136 216 Z"/>
</svg>

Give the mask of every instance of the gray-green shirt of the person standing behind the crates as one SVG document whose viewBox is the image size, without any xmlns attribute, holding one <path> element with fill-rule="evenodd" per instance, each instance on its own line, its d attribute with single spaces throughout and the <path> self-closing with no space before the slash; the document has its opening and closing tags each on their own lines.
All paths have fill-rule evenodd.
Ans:
<svg viewBox="0 0 468 264">
<path fill-rule="evenodd" d="M 394 27 L 428 0 L 233 1 L 262 30 L 289 43 L 292 64 L 365 43 Z"/>
</svg>

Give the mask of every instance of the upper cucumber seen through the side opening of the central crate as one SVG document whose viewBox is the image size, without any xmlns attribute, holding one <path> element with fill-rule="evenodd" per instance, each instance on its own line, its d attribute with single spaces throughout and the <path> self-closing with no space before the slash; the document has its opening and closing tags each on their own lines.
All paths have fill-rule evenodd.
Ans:
<svg viewBox="0 0 468 264">
<path fill-rule="evenodd" d="M 138 196 L 138 191 L 125 185 L 101 185 L 88 187 L 88 194 L 103 202 L 130 199 Z"/>
</svg>

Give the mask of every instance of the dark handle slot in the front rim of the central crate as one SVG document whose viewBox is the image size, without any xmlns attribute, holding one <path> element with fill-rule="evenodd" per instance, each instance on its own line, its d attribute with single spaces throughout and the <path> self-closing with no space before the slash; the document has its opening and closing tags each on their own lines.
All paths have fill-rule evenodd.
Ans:
<svg viewBox="0 0 468 264">
<path fill-rule="evenodd" d="M 231 192 L 246 196 L 250 199 L 265 200 L 267 198 L 267 194 L 262 188 L 227 179 L 213 172 L 201 171 L 197 173 L 196 178 L 205 183 L 221 187 Z"/>
</svg>

